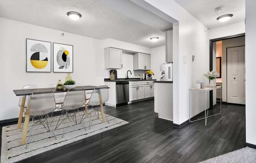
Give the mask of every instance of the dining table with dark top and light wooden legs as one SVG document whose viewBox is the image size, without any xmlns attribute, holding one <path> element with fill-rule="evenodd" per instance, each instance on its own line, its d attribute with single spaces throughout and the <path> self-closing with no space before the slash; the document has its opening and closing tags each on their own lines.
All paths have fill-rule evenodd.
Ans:
<svg viewBox="0 0 256 163">
<path fill-rule="evenodd" d="M 85 85 L 85 86 L 79 86 L 79 87 L 83 87 L 84 91 L 90 91 L 90 90 L 95 89 L 96 86 Z M 62 89 L 62 90 L 57 90 L 56 88 L 41 88 L 41 89 L 51 89 L 51 90 L 53 90 L 54 93 L 68 92 L 68 89 Z M 16 90 L 13 90 L 13 92 L 15 93 L 16 96 L 23 96 L 21 107 L 20 107 L 20 114 L 19 114 L 19 118 L 18 118 L 17 129 L 21 128 L 22 117 L 23 117 L 26 98 L 36 90 L 38 90 L 38 89 L 16 89 Z M 86 100 L 89 100 L 89 99 L 86 98 L 86 93 L 84 94 L 84 97 L 85 97 Z M 87 105 L 86 105 L 87 104 L 86 100 L 85 100 L 85 112 L 86 112 L 86 114 L 88 114 L 88 108 L 87 108 Z M 100 104 L 101 104 L 100 105 L 100 107 L 101 107 L 101 118 L 102 118 L 102 121 L 104 122 L 105 118 L 104 118 L 104 110 L 103 110 L 103 103 L 102 103 L 101 94 L 99 94 L 99 101 L 100 101 Z M 25 120 L 24 120 L 24 124 L 23 124 L 22 139 L 21 139 L 21 142 L 20 142 L 21 145 L 26 144 L 29 120 L 30 120 L 30 114 L 29 114 L 29 105 L 28 105 L 27 108 L 26 108 Z"/>
</svg>

